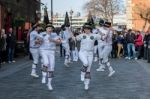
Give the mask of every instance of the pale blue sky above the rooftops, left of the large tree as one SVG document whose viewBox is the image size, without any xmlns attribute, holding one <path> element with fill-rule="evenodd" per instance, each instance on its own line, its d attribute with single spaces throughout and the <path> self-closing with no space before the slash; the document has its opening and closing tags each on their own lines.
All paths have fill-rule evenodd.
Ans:
<svg viewBox="0 0 150 99">
<path fill-rule="evenodd" d="M 51 0 L 41 0 L 42 3 L 47 4 L 48 10 L 51 8 Z M 88 0 L 53 0 L 53 9 L 54 13 L 58 12 L 61 14 L 65 14 L 66 11 L 70 11 L 71 9 L 74 12 L 84 13 L 83 5 Z"/>
</svg>

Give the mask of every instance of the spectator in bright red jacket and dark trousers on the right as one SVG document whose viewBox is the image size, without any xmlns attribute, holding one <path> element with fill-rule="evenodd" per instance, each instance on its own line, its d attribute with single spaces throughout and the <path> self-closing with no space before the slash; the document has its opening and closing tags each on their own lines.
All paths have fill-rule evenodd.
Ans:
<svg viewBox="0 0 150 99">
<path fill-rule="evenodd" d="M 143 48 L 143 36 L 140 31 L 137 31 L 137 38 L 135 40 L 135 46 L 138 52 L 137 58 L 141 59 L 142 57 L 142 48 Z"/>
</svg>

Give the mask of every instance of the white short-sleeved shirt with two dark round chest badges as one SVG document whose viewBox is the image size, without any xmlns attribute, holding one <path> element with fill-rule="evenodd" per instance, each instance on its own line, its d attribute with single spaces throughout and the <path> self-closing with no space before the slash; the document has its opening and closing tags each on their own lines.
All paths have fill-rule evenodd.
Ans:
<svg viewBox="0 0 150 99">
<path fill-rule="evenodd" d="M 94 50 L 94 42 L 95 40 L 101 39 L 101 36 L 99 34 L 80 34 L 76 37 L 78 41 L 81 41 L 80 43 L 80 50 L 85 51 L 93 51 Z"/>
</svg>

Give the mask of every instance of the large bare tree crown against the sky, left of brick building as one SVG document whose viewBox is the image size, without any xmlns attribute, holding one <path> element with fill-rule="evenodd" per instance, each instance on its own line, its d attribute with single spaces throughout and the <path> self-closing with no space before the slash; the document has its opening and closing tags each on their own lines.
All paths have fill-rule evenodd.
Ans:
<svg viewBox="0 0 150 99">
<path fill-rule="evenodd" d="M 90 0 L 84 9 L 93 12 L 92 15 L 107 19 L 113 23 L 114 15 L 120 11 L 120 0 Z"/>
</svg>

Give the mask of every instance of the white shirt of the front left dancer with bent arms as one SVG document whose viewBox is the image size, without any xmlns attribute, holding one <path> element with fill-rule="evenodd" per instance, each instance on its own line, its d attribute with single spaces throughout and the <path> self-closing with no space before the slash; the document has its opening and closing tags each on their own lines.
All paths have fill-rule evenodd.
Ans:
<svg viewBox="0 0 150 99">
<path fill-rule="evenodd" d="M 49 39 L 58 39 L 59 36 L 56 33 L 47 34 L 46 32 L 41 33 L 42 44 L 40 46 L 41 50 L 55 50 L 56 43 L 49 41 Z"/>
</svg>

